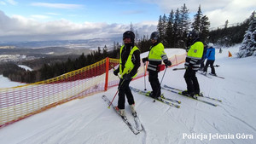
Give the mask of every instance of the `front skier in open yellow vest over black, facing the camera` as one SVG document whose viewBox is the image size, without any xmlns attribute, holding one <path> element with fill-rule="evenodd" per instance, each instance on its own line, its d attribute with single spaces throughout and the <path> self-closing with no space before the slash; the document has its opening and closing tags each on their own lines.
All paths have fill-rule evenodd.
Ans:
<svg viewBox="0 0 256 144">
<path fill-rule="evenodd" d="M 119 81 L 119 100 L 118 106 L 115 107 L 122 117 L 125 117 L 125 95 L 131 107 L 132 115 L 136 116 L 135 102 L 129 84 L 132 78 L 137 75 L 137 69 L 141 65 L 140 50 L 134 44 L 135 34 L 131 31 L 126 31 L 123 34 L 123 45 L 120 49 L 119 68 L 113 74 L 120 75 Z"/>
</svg>

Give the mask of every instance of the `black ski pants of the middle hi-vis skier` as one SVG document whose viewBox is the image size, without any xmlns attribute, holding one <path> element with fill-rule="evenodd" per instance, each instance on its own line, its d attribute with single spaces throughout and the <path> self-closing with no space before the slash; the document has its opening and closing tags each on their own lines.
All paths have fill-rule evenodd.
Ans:
<svg viewBox="0 0 256 144">
<path fill-rule="evenodd" d="M 153 90 L 154 97 L 159 97 L 161 95 L 160 82 L 158 79 L 158 72 L 148 72 L 148 81 Z"/>
</svg>

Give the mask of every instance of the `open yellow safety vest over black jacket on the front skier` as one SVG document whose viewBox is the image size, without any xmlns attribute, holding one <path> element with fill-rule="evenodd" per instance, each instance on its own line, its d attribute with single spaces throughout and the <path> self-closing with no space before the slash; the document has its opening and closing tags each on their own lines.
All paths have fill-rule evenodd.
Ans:
<svg viewBox="0 0 256 144">
<path fill-rule="evenodd" d="M 126 63 L 125 63 L 125 68 L 124 68 L 124 71 L 122 70 L 122 50 L 123 48 L 125 47 L 125 45 L 123 45 L 120 49 L 120 58 L 119 58 L 119 62 L 120 62 L 120 65 L 119 65 L 119 75 L 121 76 L 121 78 L 123 78 L 123 75 L 126 74 L 126 73 L 130 73 L 131 70 L 133 69 L 134 67 L 134 64 L 133 62 L 131 61 L 131 56 L 133 55 L 133 52 L 135 50 L 139 50 L 137 48 L 137 46 L 134 46 L 132 49 L 131 49 L 131 52 L 130 52 L 130 55 L 128 56 L 127 60 L 126 60 Z M 137 73 L 132 77 L 132 78 L 135 78 L 137 76 Z"/>
</svg>

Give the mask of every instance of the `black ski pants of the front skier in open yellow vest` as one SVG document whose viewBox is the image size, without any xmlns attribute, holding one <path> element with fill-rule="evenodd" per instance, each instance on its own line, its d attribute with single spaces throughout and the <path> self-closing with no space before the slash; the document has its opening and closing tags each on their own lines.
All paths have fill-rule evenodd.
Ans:
<svg viewBox="0 0 256 144">
<path fill-rule="evenodd" d="M 134 104 L 134 98 L 131 93 L 131 89 L 129 88 L 130 82 L 131 80 L 124 80 L 122 78 L 119 81 L 119 101 L 118 101 L 119 109 L 125 109 L 125 95 L 129 105 Z"/>
</svg>

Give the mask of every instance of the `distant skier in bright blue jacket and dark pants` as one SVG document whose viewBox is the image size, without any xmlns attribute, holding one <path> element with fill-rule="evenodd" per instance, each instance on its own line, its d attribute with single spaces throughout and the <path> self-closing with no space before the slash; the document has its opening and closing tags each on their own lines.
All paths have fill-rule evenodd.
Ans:
<svg viewBox="0 0 256 144">
<path fill-rule="evenodd" d="M 210 65 L 212 70 L 211 74 L 216 76 L 215 69 L 213 66 L 213 63 L 215 61 L 215 48 L 213 48 L 213 43 L 209 43 L 209 49 L 207 50 L 206 57 L 207 57 L 207 63 L 206 63 L 206 66 L 204 67 L 204 74 L 207 74 L 207 68 Z"/>
</svg>

